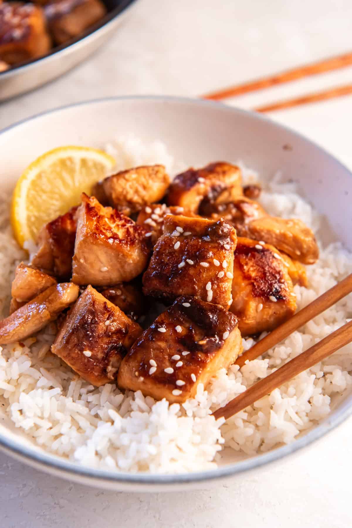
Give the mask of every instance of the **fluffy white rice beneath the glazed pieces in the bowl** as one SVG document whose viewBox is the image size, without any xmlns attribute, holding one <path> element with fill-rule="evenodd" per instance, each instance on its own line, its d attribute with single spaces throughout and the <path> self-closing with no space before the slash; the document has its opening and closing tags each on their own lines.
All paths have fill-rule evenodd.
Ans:
<svg viewBox="0 0 352 528">
<path fill-rule="evenodd" d="M 119 168 L 142 163 L 164 163 L 175 173 L 165 145 L 142 145 L 125 138 L 107 146 Z M 246 182 L 258 176 L 243 168 Z M 319 218 L 296 194 L 292 184 L 271 182 L 261 202 L 269 213 L 302 219 L 314 231 Z M 1 307 L 7 315 L 14 268 L 24 258 L 8 227 L 8 197 L 0 210 Z M 332 244 L 321 250 L 319 261 L 307 267 L 309 288 L 295 286 L 298 309 L 352 272 L 351 255 Z M 71 461 L 122 472 L 181 473 L 215 467 L 221 450 L 229 447 L 240 456 L 255 455 L 292 442 L 330 411 L 330 398 L 352 383 L 352 345 L 348 345 L 274 390 L 233 418 L 218 420 L 210 413 L 264 378 L 283 363 L 321 340 L 352 315 L 351 296 L 294 332 L 240 370 L 218 372 L 205 391 L 199 385 L 195 399 L 182 406 L 144 398 L 140 391 L 122 394 L 116 385 L 94 388 L 50 353 L 54 326 L 22 346 L 0 347 L 0 399 L 5 412 L 28 439 L 46 451 Z M 250 348 L 253 340 L 243 340 Z M 24 346 L 23 346 L 24 345 Z"/>
</svg>

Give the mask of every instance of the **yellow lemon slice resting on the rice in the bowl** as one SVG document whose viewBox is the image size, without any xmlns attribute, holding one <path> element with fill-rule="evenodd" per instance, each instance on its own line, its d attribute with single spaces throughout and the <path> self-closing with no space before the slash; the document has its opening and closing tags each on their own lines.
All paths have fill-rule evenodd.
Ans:
<svg viewBox="0 0 352 528">
<path fill-rule="evenodd" d="M 82 192 L 104 178 L 115 159 L 89 147 L 49 150 L 28 166 L 18 180 L 11 206 L 11 225 L 17 242 L 36 240 L 40 228 L 80 203 Z"/>
</svg>

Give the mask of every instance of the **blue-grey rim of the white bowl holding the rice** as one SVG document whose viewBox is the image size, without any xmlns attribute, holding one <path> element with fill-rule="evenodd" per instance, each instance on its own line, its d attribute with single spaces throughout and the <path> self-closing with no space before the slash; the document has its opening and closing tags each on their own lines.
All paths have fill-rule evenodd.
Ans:
<svg viewBox="0 0 352 528">
<path fill-rule="evenodd" d="M 135 0 L 132 0 L 135 1 Z M 212 107 L 217 110 L 230 112 L 235 115 L 250 116 L 254 120 L 261 120 L 264 123 L 279 128 L 291 134 L 293 137 L 297 137 L 304 142 L 308 143 L 311 147 L 317 149 L 320 153 L 328 156 L 332 162 L 336 165 L 339 165 L 344 171 L 346 171 L 351 177 L 352 172 L 337 158 L 332 156 L 324 148 L 317 145 L 315 142 L 306 138 L 302 134 L 286 127 L 284 125 L 275 122 L 268 116 L 258 114 L 257 112 L 250 110 L 243 110 L 241 108 L 236 108 L 233 106 L 225 105 L 222 102 L 217 101 L 208 101 L 202 99 L 188 98 L 188 97 L 174 97 L 174 96 L 153 96 L 153 95 L 136 95 L 136 96 L 116 96 L 116 97 L 104 97 L 97 99 L 90 99 L 86 101 L 80 101 L 77 103 L 72 103 L 70 105 L 63 105 L 56 107 L 51 110 L 45 110 L 39 114 L 35 114 L 31 117 L 22 119 L 15 122 L 12 125 L 9 125 L 2 130 L 0 130 L 0 140 L 3 135 L 9 131 L 20 127 L 27 122 L 35 121 L 44 117 L 46 115 L 57 114 L 62 110 L 70 110 L 77 107 L 90 105 L 99 105 L 101 103 L 107 102 L 116 102 L 123 103 L 124 101 L 129 102 L 140 102 L 144 101 L 146 103 L 173 103 L 175 105 L 196 105 L 200 107 Z M 192 473 L 181 473 L 181 474 L 145 474 L 145 473 L 124 473 L 118 471 L 109 471 L 104 469 L 96 469 L 89 466 L 79 466 L 74 464 L 69 460 L 64 458 L 59 458 L 56 455 L 47 454 L 45 451 L 37 451 L 36 449 L 18 444 L 13 445 L 10 438 L 3 435 L 0 432 L 0 449 L 7 452 L 7 454 L 20 458 L 22 461 L 30 464 L 32 466 L 40 466 L 41 469 L 50 471 L 50 468 L 56 470 L 62 477 L 65 478 L 74 478 L 82 477 L 89 479 L 90 484 L 99 485 L 99 482 L 106 483 L 120 483 L 120 484 L 138 484 L 138 485 L 168 485 L 172 487 L 177 484 L 186 484 L 186 483 L 201 483 L 208 480 L 222 479 L 226 477 L 231 477 L 236 474 L 246 473 L 253 469 L 266 466 L 271 464 L 274 461 L 280 460 L 283 457 L 292 455 L 303 447 L 309 446 L 312 442 L 318 440 L 325 436 L 329 431 L 335 429 L 340 423 L 345 421 L 352 414 L 352 403 L 344 401 L 340 406 L 333 410 L 326 419 L 324 419 L 319 425 L 309 430 L 303 436 L 294 440 L 291 444 L 287 444 L 278 448 L 275 448 L 271 451 L 265 452 L 263 454 L 237 461 L 235 463 L 227 464 L 223 467 L 217 467 L 214 469 L 203 470 L 199 472 Z"/>
</svg>

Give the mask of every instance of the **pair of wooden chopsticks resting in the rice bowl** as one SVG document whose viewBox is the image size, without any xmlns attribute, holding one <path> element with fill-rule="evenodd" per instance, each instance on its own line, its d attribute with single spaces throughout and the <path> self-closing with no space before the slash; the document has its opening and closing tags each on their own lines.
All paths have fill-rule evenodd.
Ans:
<svg viewBox="0 0 352 528">
<path fill-rule="evenodd" d="M 264 352 L 267 352 L 269 348 L 280 343 L 280 341 L 292 334 L 292 332 L 324 312 L 327 308 L 330 308 L 330 306 L 337 303 L 337 301 L 351 293 L 351 291 L 352 274 L 348 275 L 346 279 L 341 280 L 336 286 L 326 291 L 325 294 L 318 297 L 308 306 L 300 310 L 300 312 L 297 312 L 297 314 L 291 317 L 286 323 L 283 323 L 261 341 L 252 346 L 252 348 L 237 359 L 236 364 L 243 366 L 246 360 L 254 360 Z M 326 357 L 351 341 L 352 320 L 319 341 L 316 345 L 313 345 L 305 352 L 302 352 L 293 360 L 281 366 L 277 371 L 269 374 L 267 378 L 263 378 L 258 383 L 252 385 L 249 389 L 242 392 L 242 394 L 231 400 L 224 407 L 217 409 L 213 415 L 216 419 L 222 416 L 225 417 L 225 419 L 230 418 L 233 414 L 252 405 L 255 401 L 260 400 L 283 383 L 291 380 L 300 372 L 316 365 L 319 361 L 324 360 Z"/>
</svg>

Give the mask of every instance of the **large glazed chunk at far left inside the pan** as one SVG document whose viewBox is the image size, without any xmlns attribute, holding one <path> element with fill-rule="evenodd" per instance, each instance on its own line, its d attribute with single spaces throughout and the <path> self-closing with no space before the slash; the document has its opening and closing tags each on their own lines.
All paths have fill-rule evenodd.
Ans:
<svg viewBox="0 0 352 528">
<path fill-rule="evenodd" d="M 45 55 L 51 40 L 41 7 L 0 2 L 0 60 L 17 64 Z"/>
</svg>

